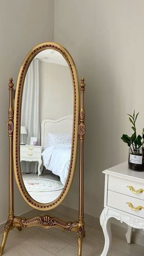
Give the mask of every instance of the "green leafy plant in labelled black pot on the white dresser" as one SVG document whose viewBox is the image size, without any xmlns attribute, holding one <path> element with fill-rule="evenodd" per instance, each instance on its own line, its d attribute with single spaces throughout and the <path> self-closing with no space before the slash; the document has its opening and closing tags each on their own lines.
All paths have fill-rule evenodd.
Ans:
<svg viewBox="0 0 144 256">
<path fill-rule="evenodd" d="M 132 170 L 143 171 L 144 170 L 144 128 L 142 131 L 142 136 L 140 134 L 137 136 L 137 130 L 135 122 L 137 120 L 139 113 L 129 115 L 129 121 L 132 123 L 132 130 L 134 133 L 131 137 L 127 134 L 123 134 L 121 139 L 123 142 L 128 144 L 129 147 L 129 168 Z"/>
</svg>

